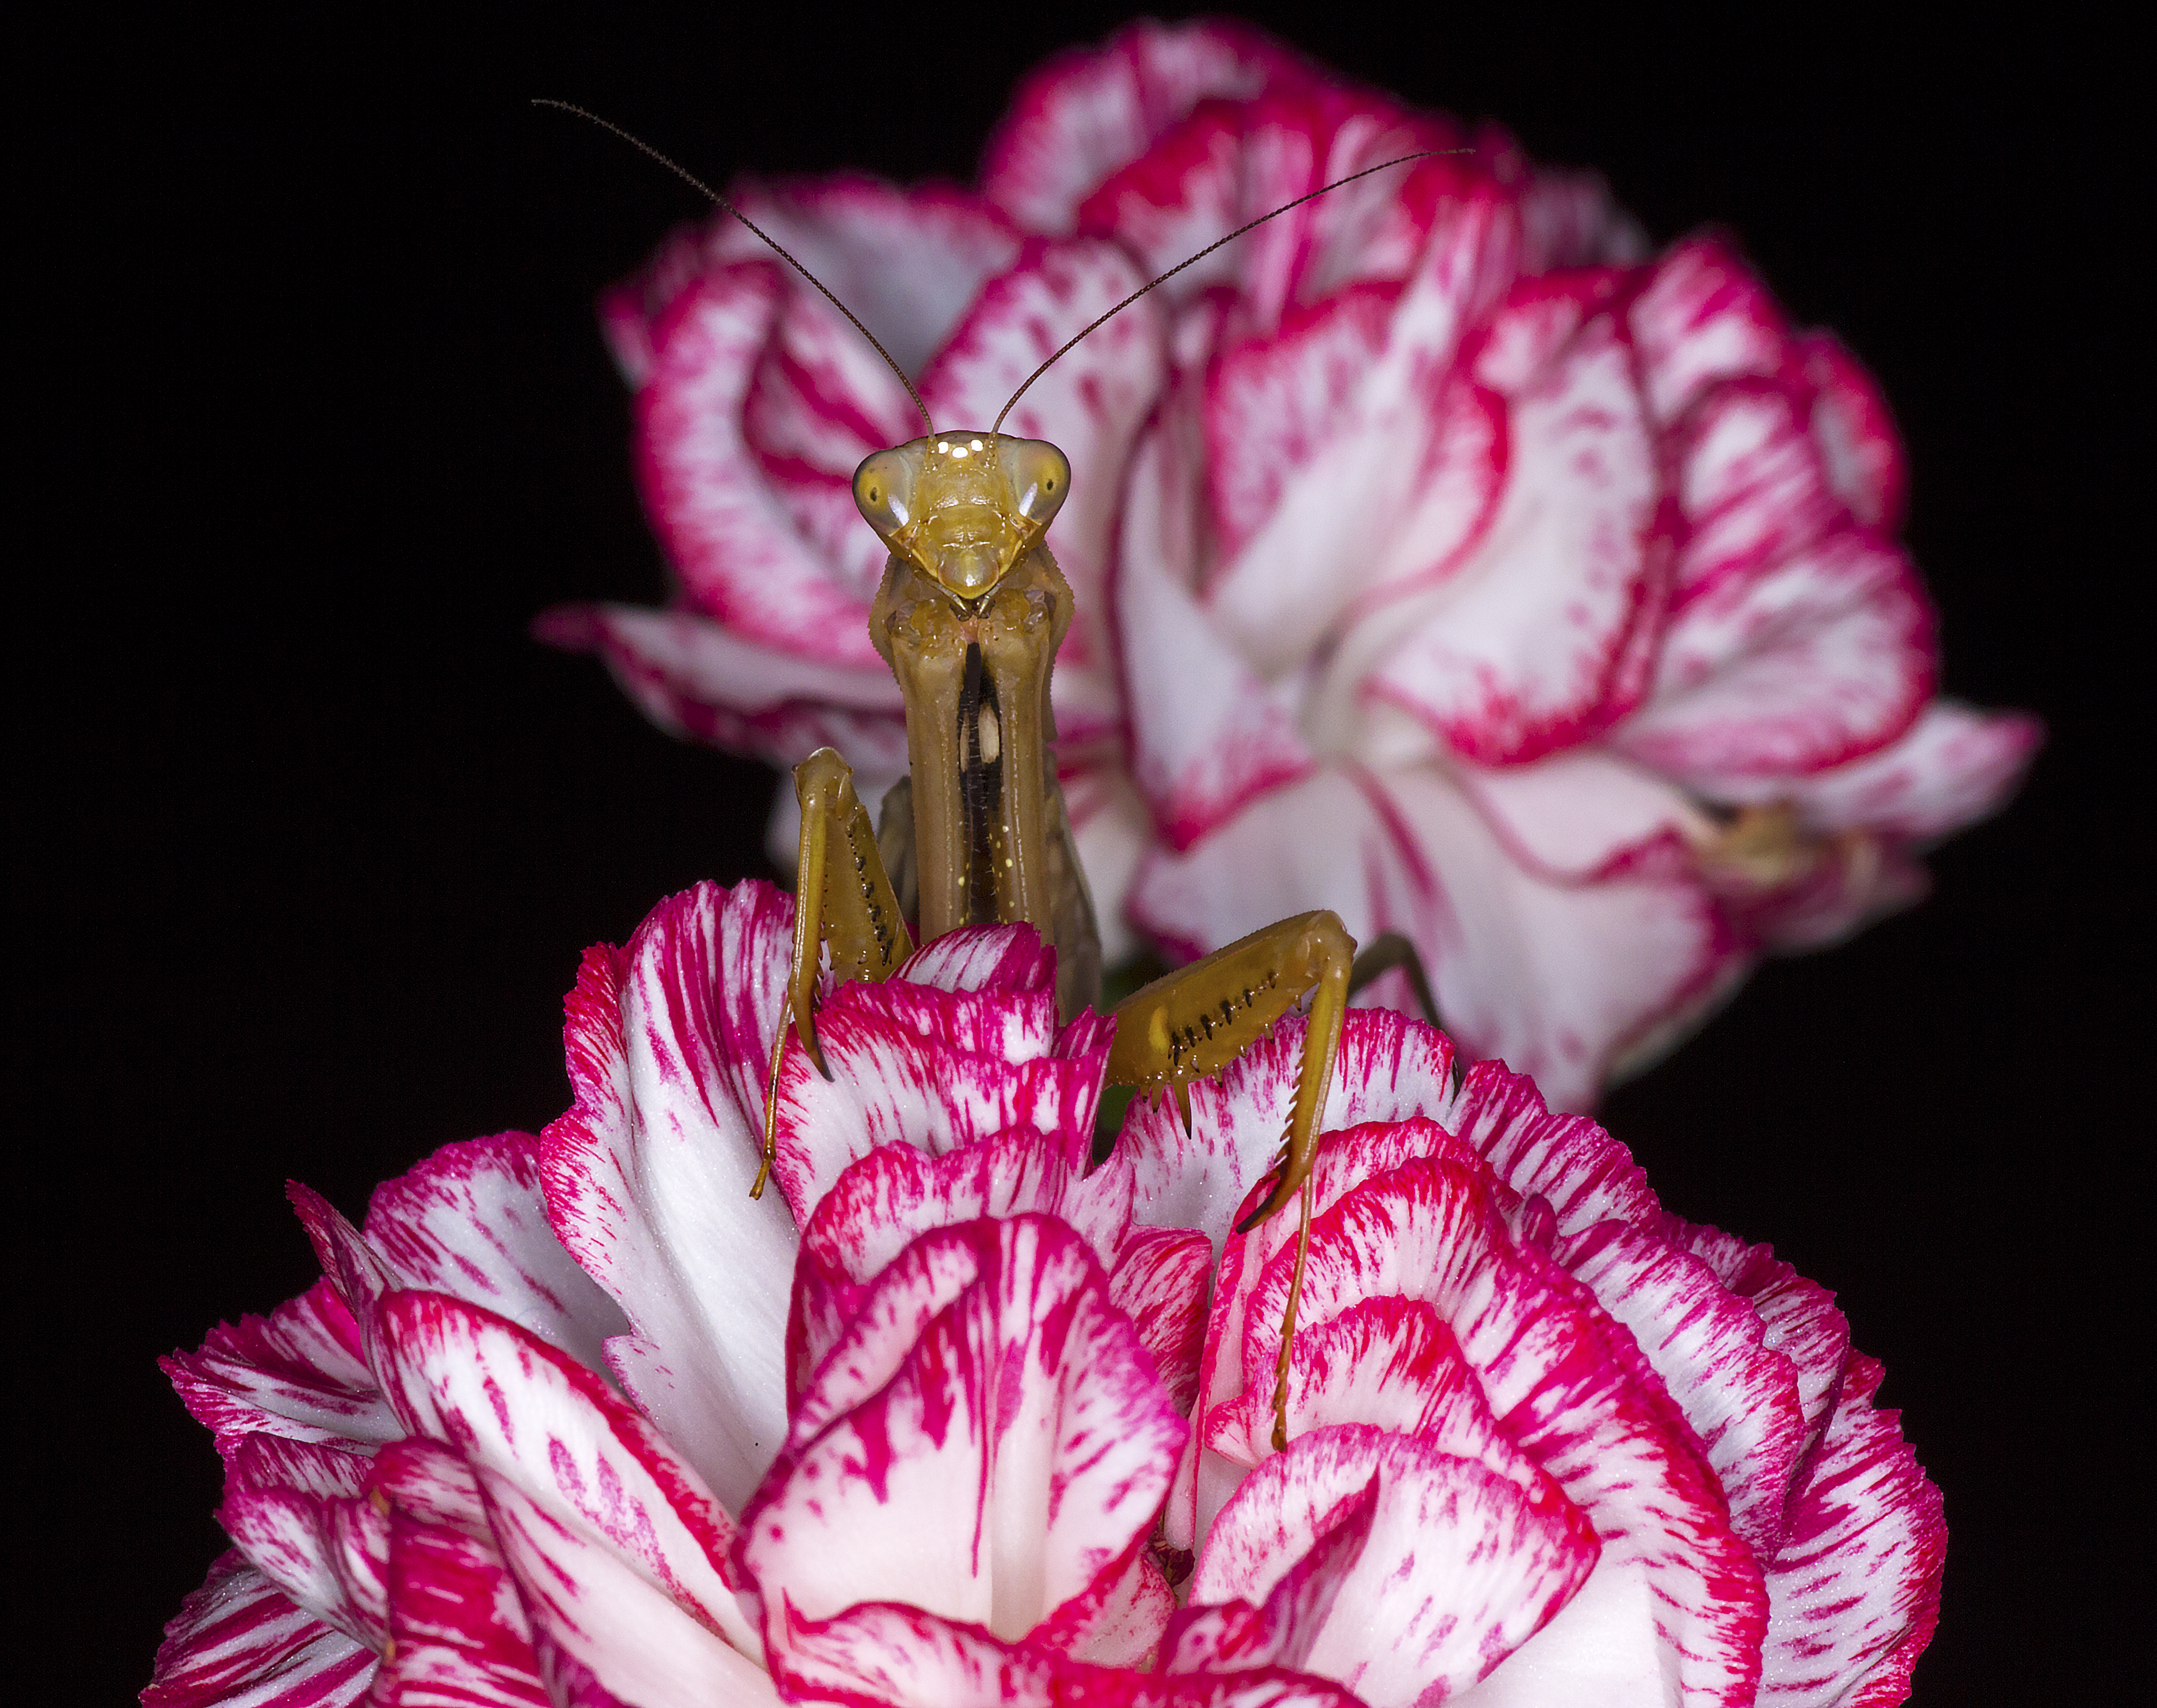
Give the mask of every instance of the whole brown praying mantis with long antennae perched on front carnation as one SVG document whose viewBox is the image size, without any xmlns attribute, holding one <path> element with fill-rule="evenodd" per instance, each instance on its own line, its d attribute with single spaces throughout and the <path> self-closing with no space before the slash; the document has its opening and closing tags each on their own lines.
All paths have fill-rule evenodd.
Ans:
<svg viewBox="0 0 2157 1708">
<path fill-rule="evenodd" d="M 537 106 L 557 106 L 615 132 L 770 244 L 891 362 L 928 429 L 854 470 L 854 505 L 891 550 L 869 610 L 869 640 L 899 681 L 908 776 L 887 791 L 880 824 L 871 828 L 854 794 L 854 774 L 837 750 L 820 748 L 794 768 L 802 811 L 794 960 L 772 1039 L 764 1169 L 751 1186 L 751 1195 L 761 1195 L 774 1158 L 779 1068 L 789 1029 L 818 1072 L 826 1072 L 815 1035 L 815 990 L 826 953 L 835 979 L 880 981 L 915 949 L 908 919 L 923 942 L 962 925 L 1025 921 L 1057 949 L 1063 1016 L 1100 996 L 1094 899 L 1048 746 L 1055 740 L 1048 677 L 1070 628 L 1072 591 L 1048 552 L 1046 533 L 1070 496 L 1072 470 L 1046 440 L 999 431 L 1012 405 L 1078 339 L 1221 244 L 1389 166 L 1471 151 L 1426 149 L 1365 166 L 1238 226 L 1072 336 L 1027 377 L 988 429 L 938 431 L 921 392 L 876 336 L 740 209 L 619 125 L 565 101 Z M 1273 1188 L 1238 1227 L 1249 1231 L 1301 1193 L 1273 1395 L 1275 1449 L 1288 1445 L 1288 1367 L 1311 1234 L 1311 1160 L 1348 996 L 1402 964 L 1430 1011 L 1428 983 L 1404 940 L 1389 934 L 1357 958 L 1335 914 L 1307 912 L 1154 979 L 1115 1007 L 1109 1083 L 1137 1087 L 1141 1096 L 1173 1096 L 1189 1121 L 1191 1080 L 1219 1074 L 1311 998 Z"/>
</svg>

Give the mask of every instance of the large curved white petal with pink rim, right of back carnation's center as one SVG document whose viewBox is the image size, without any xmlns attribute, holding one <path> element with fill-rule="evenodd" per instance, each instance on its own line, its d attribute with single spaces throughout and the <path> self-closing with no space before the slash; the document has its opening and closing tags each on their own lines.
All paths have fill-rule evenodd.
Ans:
<svg viewBox="0 0 2157 1708">
<path fill-rule="evenodd" d="M 1501 319 L 1490 349 L 1506 339 Z M 1480 543 L 1413 610 L 1370 619 L 1413 628 L 1370 692 L 1484 766 L 1572 746 L 1633 705 L 1667 574 L 1654 440 L 1609 315 L 1506 386 L 1506 427 Z"/>
</svg>

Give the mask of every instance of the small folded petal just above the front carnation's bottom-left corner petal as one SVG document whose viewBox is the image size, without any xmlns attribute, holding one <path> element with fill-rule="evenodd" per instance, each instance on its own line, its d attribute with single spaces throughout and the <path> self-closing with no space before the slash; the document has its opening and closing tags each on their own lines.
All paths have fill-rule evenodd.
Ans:
<svg viewBox="0 0 2157 1708">
<path fill-rule="evenodd" d="M 287 1451 L 280 1451 L 285 1447 Z M 244 1441 L 224 1477 L 218 1523 L 293 1604 L 382 1648 L 388 1518 L 360 1499 L 365 1462 L 330 1447 Z"/>
</svg>

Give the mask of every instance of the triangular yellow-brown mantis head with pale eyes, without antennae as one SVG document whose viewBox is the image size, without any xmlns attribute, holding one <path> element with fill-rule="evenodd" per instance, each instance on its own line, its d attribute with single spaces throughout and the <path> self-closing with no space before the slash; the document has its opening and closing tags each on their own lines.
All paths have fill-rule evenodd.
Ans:
<svg viewBox="0 0 2157 1708">
<path fill-rule="evenodd" d="M 854 470 L 854 505 L 891 554 L 960 602 L 986 600 L 1033 550 L 1070 492 L 1048 440 L 930 433 Z"/>
</svg>

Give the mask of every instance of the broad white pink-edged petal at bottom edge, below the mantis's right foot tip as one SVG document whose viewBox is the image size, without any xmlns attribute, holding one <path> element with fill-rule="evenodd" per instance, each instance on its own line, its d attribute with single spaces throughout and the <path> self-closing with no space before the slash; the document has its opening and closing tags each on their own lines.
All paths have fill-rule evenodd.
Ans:
<svg viewBox="0 0 2157 1708">
<path fill-rule="evenodd" d="M 1290 1443 L 1236 1490 L 1191 1579 L 1195 1602 L 1264 1600 L 1361 1507 L 1361 1548 L 1301 1665 L 1372 1708 L 1441 1702 L 1542 1630 L 1596 1566 L 1588 1516 L 1426 1441 L 1342 1423 Z"/>
</svg>

